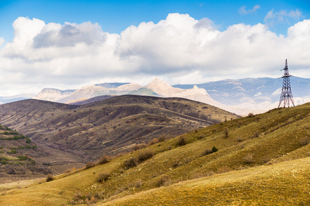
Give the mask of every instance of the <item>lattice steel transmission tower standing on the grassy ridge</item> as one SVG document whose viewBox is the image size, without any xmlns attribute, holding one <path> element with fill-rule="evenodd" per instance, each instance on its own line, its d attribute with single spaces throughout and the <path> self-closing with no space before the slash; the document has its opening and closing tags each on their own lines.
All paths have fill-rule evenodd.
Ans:
<svg viewBox="0 0 310 206">
<path fill-rule="evenodd" d="M 281 70 L 284 70 L 285 72 L 284 72 L 284 75 L 282 76 L 283 78 L 282 93 L 280 96 L 280 102 L 279 102 L 278 108 L 281 106 L 282 102 L 283 102 L 283 107 L 285 106 L 289 107 L 289 102 L 291 102 L 291 104 L 295 106 L 294 100 L 293 100 L 293 94 L 291 93 L 291 83 L 289 82 L 289 77 L 291 75 L 289 75 L 289 67 L 287 67 L 287 60 L 285 60 L 285 68 Z"/>
</svg>

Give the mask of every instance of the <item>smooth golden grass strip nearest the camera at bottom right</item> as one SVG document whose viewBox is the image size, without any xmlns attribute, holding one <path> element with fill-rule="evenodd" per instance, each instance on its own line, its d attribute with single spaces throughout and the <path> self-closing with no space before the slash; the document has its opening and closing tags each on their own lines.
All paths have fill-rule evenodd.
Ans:
<svg viewBox="0 0 310 206">
<path fill-rule="evenodd" d="M 310 157 L 216 174 L 100 205 L 307 205 Z"/>
</svg>

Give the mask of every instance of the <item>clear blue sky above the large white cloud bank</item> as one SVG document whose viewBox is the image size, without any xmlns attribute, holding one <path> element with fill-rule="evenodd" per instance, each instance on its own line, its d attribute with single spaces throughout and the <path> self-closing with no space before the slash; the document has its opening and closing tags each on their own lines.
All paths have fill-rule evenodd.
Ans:
<svg viewBox="0 0 310 206">
<path fill-rule="evenodd" d="M 255 12 L 240 14 L 239 10 L 251 10 L 259 5 Z M 219 30 L 225 30 L 229 25 L 245 23 L 254 25 L 264 23 L 265 16 L 271 10 L 287 10 L 302 12 L 300 20 L 309 19 L 310 2 L 304 1 L 0 1 L 0 36 L 6 41 L 12 41 L 12 23 L 19 16 L 37 18 L 45 23 L 83 23 L 91 21 L 99 23 L 103 31 L 121 33 L 130 25 L 141 22 L 165 19 L 169 13 L 189 14 L 194 19 L 205 17 L 214 21 Z M 287 28 L 296 23 L 279 22 L 270 30 L 277 34 L 287 34 Z"/>
</svg>

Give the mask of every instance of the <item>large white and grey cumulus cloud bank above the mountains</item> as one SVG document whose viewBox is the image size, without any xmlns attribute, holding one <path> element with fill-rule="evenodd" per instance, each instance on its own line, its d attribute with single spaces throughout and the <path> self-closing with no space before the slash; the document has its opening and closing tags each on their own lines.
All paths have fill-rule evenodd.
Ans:
<svg viewBox="0 0 310 206">
<path fill-rule="evenodd" d="M 121 34 L 97 23 L 45 24 L 19 17 L 14 39 L 0 50 L 0 95 L 39 92 L 43 87 L 74 89 L 100 82 L 146 84 L 161 78 L 192 84 L 224 78 L 309 77 L 310 20 L 278 36 L 267 25 L 236 24 L 221 32 L 210 19 L 169 14 Z"/>
</svg>

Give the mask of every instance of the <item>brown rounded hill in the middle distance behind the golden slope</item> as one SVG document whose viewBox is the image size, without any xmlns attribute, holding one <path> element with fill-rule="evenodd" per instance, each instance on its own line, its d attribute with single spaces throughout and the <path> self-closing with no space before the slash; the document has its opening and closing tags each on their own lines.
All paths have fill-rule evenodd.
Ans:
<svg viewBox="0 0 310 206">
<path fill-rule="evenodd" d="M 182 98 L 124 95 L 79 106 L 24 100 L 0 106 L 1 124 L 85 161 L 128 152 L 237 115 Z"/>
</svg>

